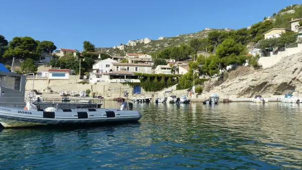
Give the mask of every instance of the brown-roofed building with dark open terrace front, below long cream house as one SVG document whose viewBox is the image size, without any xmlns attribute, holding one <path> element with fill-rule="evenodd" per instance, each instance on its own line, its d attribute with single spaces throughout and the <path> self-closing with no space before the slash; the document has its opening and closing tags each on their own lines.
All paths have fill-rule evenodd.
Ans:
<svg viewBox="0 0 302 170">
<path fill-rule="evenodd" d="M 140 82 L 139 76 L 131 71 L 115 71 L 109 72 L 109 82 Z"/>
</svg>

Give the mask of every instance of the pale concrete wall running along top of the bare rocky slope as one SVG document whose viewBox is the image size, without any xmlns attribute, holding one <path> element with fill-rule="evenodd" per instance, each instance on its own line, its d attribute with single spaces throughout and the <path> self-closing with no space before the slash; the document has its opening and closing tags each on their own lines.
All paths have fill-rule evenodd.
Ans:
<svg viewBox="0 0 302 170">
<path fill-rule="evenodd" d="M 293 55 L 300 51 L 302 51 L 302 44 L 298 44 L 298 47 L 295 48 L 286 48 L 285 51 L 279 51 L 276 55 L 271 52 L 270 57 L 261 57 L 258 63 L 262 65 L 262 68 L 267 68 L 279 62 L 282 57 Z"/>
</svg>

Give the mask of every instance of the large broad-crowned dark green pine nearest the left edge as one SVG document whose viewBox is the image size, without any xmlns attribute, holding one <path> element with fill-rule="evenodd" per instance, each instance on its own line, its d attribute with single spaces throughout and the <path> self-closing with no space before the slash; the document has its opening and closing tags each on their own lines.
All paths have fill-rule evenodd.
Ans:
<svg viewBox="0 0 302 170">
<path fill-rule="evenodd" d="M 38 59 L 40 52 L 38 51 L 38 42 L 31 37 L 14 37 L 9 42 L 8 49 L 5 51 L 4 58 L 32 58 Z"/>
</svg>

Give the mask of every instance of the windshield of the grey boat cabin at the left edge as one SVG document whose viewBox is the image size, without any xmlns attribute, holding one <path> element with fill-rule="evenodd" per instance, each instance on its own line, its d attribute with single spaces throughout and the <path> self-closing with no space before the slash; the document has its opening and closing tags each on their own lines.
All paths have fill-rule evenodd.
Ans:
<svg viewBox="0 0 302 170">
<path fill-rule="evenodd" d="M 12 89 L 15 91 L 21 91 L 21 77 L 0 75 L 0 84 L 2 87 Z"/>
</svg>

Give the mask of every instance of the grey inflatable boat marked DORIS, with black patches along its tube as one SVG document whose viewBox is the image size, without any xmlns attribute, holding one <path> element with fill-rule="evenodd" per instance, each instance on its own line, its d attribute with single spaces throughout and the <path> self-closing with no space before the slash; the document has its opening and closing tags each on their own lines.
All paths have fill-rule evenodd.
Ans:
<svg viewBox="0 0 302 170">
<path fill-rule="evenodd" d="M 119 109 L 37 109 L 27 103 L 24 109 L 0 107 L 0 123 L 6 127 L 26 127 L 37 125 L 77 125 L 112 122 L 138 121 L 141 114 L 132 110 L 132 103 L 124 102 Z"/>
</svg>

